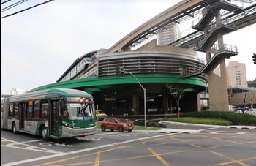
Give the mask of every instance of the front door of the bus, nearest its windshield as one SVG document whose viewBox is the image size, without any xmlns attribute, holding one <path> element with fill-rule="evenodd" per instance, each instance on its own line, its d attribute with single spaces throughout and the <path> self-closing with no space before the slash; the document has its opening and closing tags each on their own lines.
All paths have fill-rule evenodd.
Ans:
<svg viewBox="0 0 256 166">
<path fill-rule="evenodd" d="M 59 135 L 58 129 L 59 100 L 50 101 L 49 134 Z"/>
</svg>

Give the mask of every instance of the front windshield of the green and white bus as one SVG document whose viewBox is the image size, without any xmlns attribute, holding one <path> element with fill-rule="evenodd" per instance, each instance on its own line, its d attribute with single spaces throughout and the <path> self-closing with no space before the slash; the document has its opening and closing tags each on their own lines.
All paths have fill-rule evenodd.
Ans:
<svg viewBox="0 0 256 166">
<path fill-rule="evenodd" d="M 71 120 L 89 120 L 95 116 L 91 103 L 66 103 L 67 117 Z"/>
</svg>

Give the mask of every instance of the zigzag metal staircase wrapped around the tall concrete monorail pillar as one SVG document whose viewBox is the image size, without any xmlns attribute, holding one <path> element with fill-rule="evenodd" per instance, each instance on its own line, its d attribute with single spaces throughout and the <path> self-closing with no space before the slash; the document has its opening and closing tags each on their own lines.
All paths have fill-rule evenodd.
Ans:
<svg viewBox="0 0 256 166">
<path fill-rule="evenodd" d="M 215 4 L 211 4 L 202 11 L 202 17 L 196 20 L 192 29 L 197 29 L 198 31 L 204 31 L 204 37 L 198 38 L 198 42 L 195 50 L 206 52 L 208 48 L 214 50 L 214 56 L 208 59 L 207 64 L 200 70 L 200 72 L 189 72 L 188 69 L 184 69 L 182 72 L 182 78 L 189 78 L 195 75 L 201 75 L 202 73 L 207 73 L 217 67 L 222 59 L 230 58 L 231 56 L 236 56 L 238 54 L 236 46 L 233 45 L 214 45 L 217 42 L 219 36 L 230 33 L 235 30 L 234 24 L 230 23 L 227 18 L 219 19 L 219 21 L 214 20 L 216 16 L 216 11 L 228 10 L 230 12 L 241 12 L 243 9 L 234 4 L 230 4 L 227 1 L 217 1 Z M 214 12 L 215 11 L 215 12 Z M 217 18 L 216 18 L 217 19 Z M 218 23 L 217 23 L 218 22 Z"/>
</svg>

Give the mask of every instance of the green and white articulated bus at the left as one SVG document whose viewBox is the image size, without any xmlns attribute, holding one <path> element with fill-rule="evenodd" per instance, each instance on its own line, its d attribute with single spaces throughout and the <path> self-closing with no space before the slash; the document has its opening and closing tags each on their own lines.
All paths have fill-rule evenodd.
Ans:
<svg viewBox="0 0 256 166">
<path fill-rule="evenodd" d="M 97 118 L 91 94 L 54 88 L 1 99 L 1 129 L 48 138 L 94 135 Z"/>
</svg>

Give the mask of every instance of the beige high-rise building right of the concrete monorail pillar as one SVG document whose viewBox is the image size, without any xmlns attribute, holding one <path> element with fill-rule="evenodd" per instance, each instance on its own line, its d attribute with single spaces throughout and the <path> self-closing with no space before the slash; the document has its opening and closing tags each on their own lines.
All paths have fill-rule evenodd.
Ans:
<svg viewBox="0 0 256 166">
<path fill-rule="evenodd" d="M 228 63 L 227 83 L 231 88 L 248 87 L 245 64 L 238 61 L 230 61 Z"/>
</svg>

